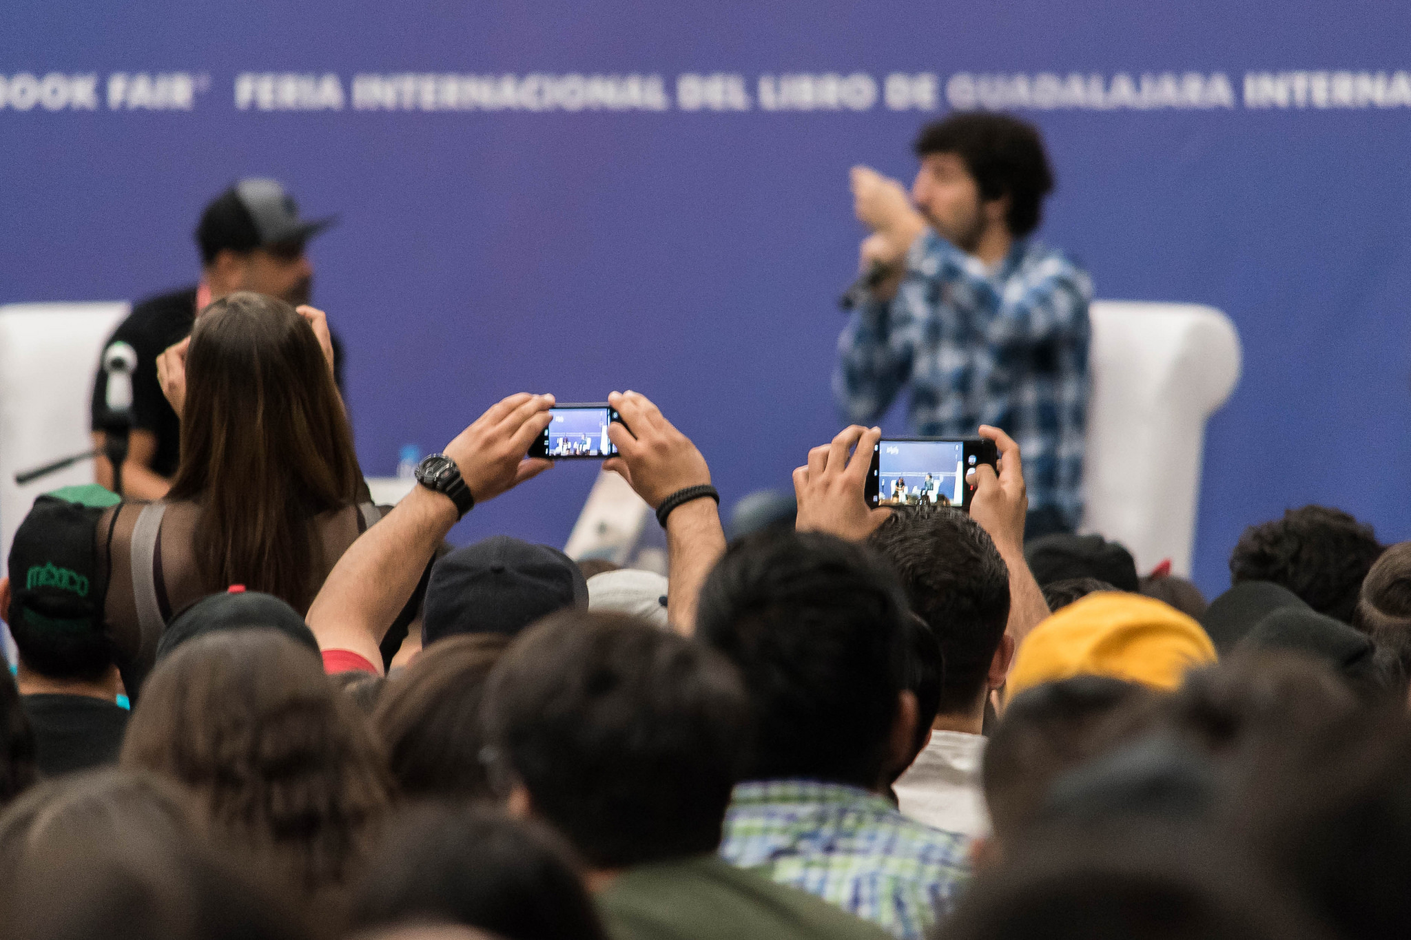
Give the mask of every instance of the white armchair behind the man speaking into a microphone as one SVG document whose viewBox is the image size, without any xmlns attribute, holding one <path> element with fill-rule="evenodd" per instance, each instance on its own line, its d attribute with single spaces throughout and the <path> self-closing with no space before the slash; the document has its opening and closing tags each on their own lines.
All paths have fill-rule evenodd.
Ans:
<svg viewBox="0 0 1411 940">
<path fill-rule="evenodd" d="M 1082 531 L 1126 545 L 1137 571 L 1189 576 L 1205 421 L 1240 376 L 1235 324 L 1187 303 L 1095 300 Z"/>
</svg>

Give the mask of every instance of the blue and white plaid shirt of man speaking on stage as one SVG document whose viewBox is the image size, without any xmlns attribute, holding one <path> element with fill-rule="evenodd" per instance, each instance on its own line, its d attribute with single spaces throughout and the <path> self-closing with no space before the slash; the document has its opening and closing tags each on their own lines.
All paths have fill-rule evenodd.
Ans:
<svg viewBox="0 0 1411 940">
<path fill-rule="evenodd" d="M 914 434 L 993 424 L 1024 457 L 1029 507 L 1082 517 L 1092 282 L 1061 252 L 1017 241 L 991 273 L 934 231 L 917 238 L 890 303 L 855 310 L 832 390 L 848 421 L 878 420 L 910 386 Z"/>
</svg>

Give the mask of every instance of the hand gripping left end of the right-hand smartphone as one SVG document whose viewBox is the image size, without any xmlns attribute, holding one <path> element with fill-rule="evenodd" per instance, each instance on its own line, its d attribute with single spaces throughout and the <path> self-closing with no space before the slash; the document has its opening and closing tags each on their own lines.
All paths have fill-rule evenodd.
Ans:
<svg viewBox="0 0 1411 940">
<path fill-rule="evenodd" d="M 879 440 L 880 428 L 854 424 L 838 431 L 832 443 L 809 451 L 807 466 L 793 475 L 799 499 L 794 528 L 862 541 L 892 514 L 890 509 L 869 509 L 865 496 L 872 450 Z"/>
</svg>

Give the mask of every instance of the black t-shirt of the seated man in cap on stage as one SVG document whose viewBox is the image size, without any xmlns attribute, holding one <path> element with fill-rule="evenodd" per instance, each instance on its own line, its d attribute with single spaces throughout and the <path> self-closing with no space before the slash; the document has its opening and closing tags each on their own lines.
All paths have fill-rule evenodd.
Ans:
<svg viewBox="0 0 1411 940">
<path fill-rule="evenodd" d="M 152 472 L 172 476 L 181 459 L 181 420 L 166 403 L 161 382 L 157 381 L 157 357 L 188 335 L 196 323 L 196 287 L 185 287 L 140 302 L 119 324 L 103 348 L 117 341 L 127 342 L 137 352 L 133 372 L 133 428 L 151 431 L 157 437 Z M 343 389 L 343 344 L 329 331 L 333 341 L 333 376 Z M 93 430 L 106 430 L 107 376 L 100 368 L 93 382 Z"/>
</svg>

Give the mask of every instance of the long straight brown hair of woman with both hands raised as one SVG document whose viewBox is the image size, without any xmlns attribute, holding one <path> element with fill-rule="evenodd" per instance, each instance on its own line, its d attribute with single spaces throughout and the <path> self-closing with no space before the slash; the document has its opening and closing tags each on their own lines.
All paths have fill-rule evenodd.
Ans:
<svg viewBox="0 0 1411 940">
<path fill-rule="evenodd" d="M 301 613 L 317 585 L 312 521 L 354 502 L 361 471 L 313 328 L 284 300 L 238 292 L 196 320 L 186 352 L 181 465 L 168 499 L 200 506 L 196 571 Z"/>
</svg>

